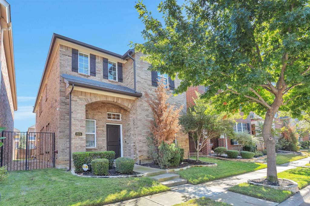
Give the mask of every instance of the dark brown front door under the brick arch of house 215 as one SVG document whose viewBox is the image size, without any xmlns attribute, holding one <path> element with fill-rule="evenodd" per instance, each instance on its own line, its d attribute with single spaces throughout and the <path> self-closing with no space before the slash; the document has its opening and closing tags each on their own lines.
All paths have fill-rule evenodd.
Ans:
<svg viewBox="0 0 310 206">
<path fill-rule="evenodd" d="M 107 124 L 107 150 L 115 152 L 115 158 L 121 157 L 121 126 Z"/>
</svg>

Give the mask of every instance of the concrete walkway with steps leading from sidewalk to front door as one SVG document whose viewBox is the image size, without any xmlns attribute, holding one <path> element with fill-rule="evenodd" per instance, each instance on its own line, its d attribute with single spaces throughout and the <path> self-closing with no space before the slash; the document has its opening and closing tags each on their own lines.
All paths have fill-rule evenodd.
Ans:
<svg viewBox="0 0 310 206">
<path fill-rule="evenodd" d="M 167 173 L 167 170 L 135 165 L 134 172 L 143 173 L 145 176 L 152 178 L 167 187 L 184 185 L 187 183 L 187 180 L 181 179 L 180 175 Z"/>
</svg>

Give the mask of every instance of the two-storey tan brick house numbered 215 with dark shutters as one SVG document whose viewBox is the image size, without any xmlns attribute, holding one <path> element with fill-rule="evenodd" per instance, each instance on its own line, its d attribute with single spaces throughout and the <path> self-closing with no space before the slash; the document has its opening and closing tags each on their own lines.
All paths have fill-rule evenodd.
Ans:
<svg viewBox="0 0 310 206">
<path fill-rule="evenodd" d="M 146 137 L 153 115 L 144 94 L 154 93 L 158 78 L 170 83 L 168 93 L 180 80 L 149 71 L 141 56 L 53 35 L 33 112 L 37 131 L 55 132 L 56 167 L 69 166 L 70 149 L 149 160 Z M 186 109 L 185 93 L 168 102 Z M 188 135 L 180 131 L 177 139 L 187 157 Z"/>
</svg>

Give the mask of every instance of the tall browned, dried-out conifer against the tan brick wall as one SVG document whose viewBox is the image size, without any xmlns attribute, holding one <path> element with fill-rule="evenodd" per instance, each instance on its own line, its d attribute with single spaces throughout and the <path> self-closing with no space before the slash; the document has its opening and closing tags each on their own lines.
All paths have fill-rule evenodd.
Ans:
<svg viewBox="0 0 310 206">
<path fill-rule="evenodd" d="M 167 94 L 166 85 L 161 80 L 155 89 L 155 95 L 145 92 L 146 102 L 153 112 L 153 120 L 150 122 L 150 136 L 148 137 L 148 153 L 155 164 L 158 164 L 158 147 L 164 141 L 171 144 L 181 129 L 179 124 L 180 111 L 183 105 L 175 109 L 175 105 L 167 103 L 171 96 Z"/>
</svg>

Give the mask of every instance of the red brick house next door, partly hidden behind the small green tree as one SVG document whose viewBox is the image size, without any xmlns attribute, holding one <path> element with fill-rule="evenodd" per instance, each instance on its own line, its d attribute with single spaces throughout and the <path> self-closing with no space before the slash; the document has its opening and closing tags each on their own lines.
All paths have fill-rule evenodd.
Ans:
<svg viewBox="0 0 310 206">
<path fill-rule="evenodd" d="M 194 101 L 193 99 L 197 98 L 196 92 L 203 94 L 206 92 L 208 87 L 205 86 L 191 86 L 186 91 L 186 102 L 187 107 L 193 106 Z M 243 116 L 243 112 L 240 113 L 241 116 Z M 236 119 L 236 125 L 233 125 L 233 128 L 235 131 L 248 131 L 250 134 L 252 134 L 252 128 L 251 126 L 251 119 L 250 115 L 247 116 L 246 119 L 240 118 Z M 193 142 L 193 139 L 191 137 L 188 137 L 188 143 L 189 143 L 189 152 L 194 153 L 196 152 L 195 149 L 195 143 Z M 228 136 L 221 136 L 218 139 L 211 139 L 210 143 L 207 143 L 205 147 L 201 149 L 202 155 L 210 154 L 211 150 L 217 147 L 226 147 L 227 149 L 231 150 L 237 150 L 238 149 L 238 143 L 236 141 L 233 141 Z"/>
</svg>

